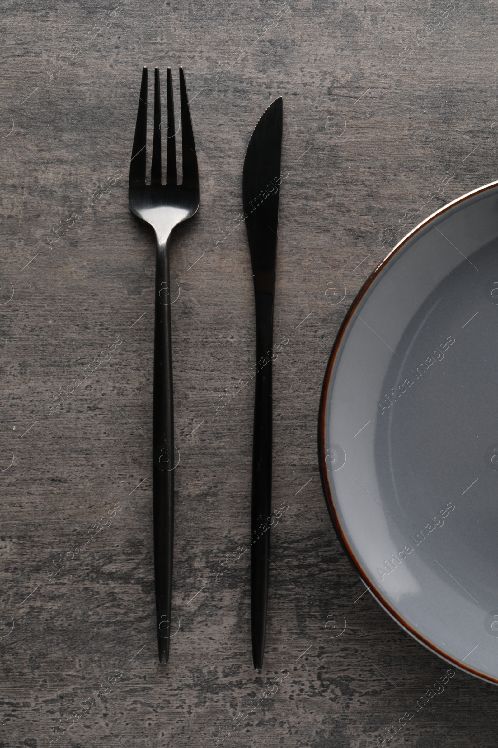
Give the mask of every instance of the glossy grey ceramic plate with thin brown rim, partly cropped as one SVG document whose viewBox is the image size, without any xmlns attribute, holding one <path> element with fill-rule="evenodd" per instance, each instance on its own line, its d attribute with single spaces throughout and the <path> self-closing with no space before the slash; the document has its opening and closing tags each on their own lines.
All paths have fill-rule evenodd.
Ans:
<svg viewBox="0 0 498 748">
<path fill-rule="evenodd" d="M 370 592 L 498 682 L 498 182 L 417 226 L 364 284 L 327 367 L 319 456 Z"/>
</svg>

